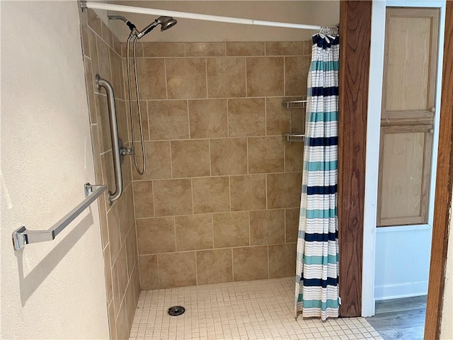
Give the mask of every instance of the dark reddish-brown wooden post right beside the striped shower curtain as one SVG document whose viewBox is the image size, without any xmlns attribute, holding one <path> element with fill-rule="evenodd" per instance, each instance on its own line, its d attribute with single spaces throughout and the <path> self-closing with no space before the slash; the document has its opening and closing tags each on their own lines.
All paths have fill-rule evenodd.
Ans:
<svg viewBox="0 0 453 340">
<path fill-rule="evenodd" d="M 341 317 L 362 313 L 365 150 L 372 1 L 340 2 L 338 239 Z"/>
</svg>

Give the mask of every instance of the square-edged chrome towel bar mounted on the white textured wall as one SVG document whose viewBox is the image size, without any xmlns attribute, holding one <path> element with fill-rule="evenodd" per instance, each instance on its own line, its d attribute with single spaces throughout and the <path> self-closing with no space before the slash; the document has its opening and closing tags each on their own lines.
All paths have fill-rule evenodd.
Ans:
<svg viewBox="0 0 453 340">
<path fill-rule="evenodd" d="M 59 220 L 55 225 L 52 225 L 47 230 L 28 230 L 26 227 L 20 227 L 13 232 L 13 245 L 14 249 L 19 250 L 25 244 L 38 243 L 45 241 L 52 241 L 57 234 L 63 231 L 77 216 L 81 214 L 96 198 L 101 196 L 105 191 L 105 186 L 92 186 L 90 183 L 85 183 L 85 196 L 86 198 L 82 203 L 76 206 L 73 210 L 68 212 L 64 217 Z"/>
</svg>

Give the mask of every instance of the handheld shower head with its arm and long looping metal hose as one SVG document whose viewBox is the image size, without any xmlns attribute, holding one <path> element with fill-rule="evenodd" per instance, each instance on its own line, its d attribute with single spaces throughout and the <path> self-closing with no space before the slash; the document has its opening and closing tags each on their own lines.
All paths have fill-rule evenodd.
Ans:
<svg viewBox="0 0 453 340">
<path fill-rule="evenodd" d="M 131 136 L 132 136 L 132 149 L 134 150 L 134 166 L 137 172 L 142 175 L 147 167 L 146 162 L 146 153 L 144 149 L 144 138 L 143 138 L 143 123 L 142 123 L 142 109 L 140 107 L 140 96 L 139 96 L 139 82 L 137 77 L 137 40 L 143 38 L 147 35 L 151 30 L 154 30 L 156 26 L 161 25 L 161 32 L 164 30 L 168 30 L 168 28 L 172 28 L 173 26 L 178 23 L 174 18 L 171 16 L 159 16 L 153 23 L 150 23 L 147 27 L 143 30 L 137 30 L 137 27 L 127 20 L 124 16 L 108 16 L 109 20 L 122 20 L 126 23 L 127 27 L 130 28 L 130 35 L 127 38 L 126 42 L 126 50 L 127 50 L 127 91 L 129 94 L 129 113 L 130 113 L 130 127 L 131 127 Z M 131 85 L 131 77 L 130 77 L 130 42 L 132 40 L 132 56 L 134 60 L 134 82 L 135 82 L 135 95 L 137 99 L 137 112 L 139 118 L 139 127 L 140 127 L 140 143 L 142 147 L 142 167 L 139 167 L 137 162 L 137 153 L 135 152 L 135 131 L 134 131 L 134 113 L 132 110 L 132 85 Z"/>
</svg>

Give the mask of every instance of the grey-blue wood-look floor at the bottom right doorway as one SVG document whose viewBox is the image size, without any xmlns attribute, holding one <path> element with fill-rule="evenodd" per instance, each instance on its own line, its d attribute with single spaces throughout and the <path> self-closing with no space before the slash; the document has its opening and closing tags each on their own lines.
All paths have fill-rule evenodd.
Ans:
<svg viewBox="0 0 453 340">
<path fill-rule="evenodd" d="M 384 340 L 423 340 L 426 295 L 376 302 L 376 314 L 367 322 Z"/>
</svg>

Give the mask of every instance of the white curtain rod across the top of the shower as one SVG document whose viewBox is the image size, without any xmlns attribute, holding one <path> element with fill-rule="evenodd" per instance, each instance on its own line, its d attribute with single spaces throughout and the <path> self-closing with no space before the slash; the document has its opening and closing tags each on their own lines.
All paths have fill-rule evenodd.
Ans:
<svg viewBox="0 0 453 340">
<path fill-rule="evenodd" d="M 204 21 L 217 21 L 220 23 L 241 23 L 243 25 L 273 26 L 284 28 L 299 28 L 302 30 L 320 30 L 321 26 L 304 25 L 300 23 L 278 23 L 276 21 L 260 21 L 253 19 L 231 18 L 229 16 L 210 16 L 208 14 L 187 13 L 178 11 L 166 11 L 164 9 L 142 8 L 114 4 L 101 4 L 98 2 L 80 1 L 82 11 L 84 8 L 103 9 L 105 11 L 117 11 L 126 13 L 150 14 L 154 16 L 173 16 L 176 18 L 195 19 Z"/>
</svg>

